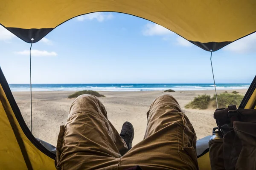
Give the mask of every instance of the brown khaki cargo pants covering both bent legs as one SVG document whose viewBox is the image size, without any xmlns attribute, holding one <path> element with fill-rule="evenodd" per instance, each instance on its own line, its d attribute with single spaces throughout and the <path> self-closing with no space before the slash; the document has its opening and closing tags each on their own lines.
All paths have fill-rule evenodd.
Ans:
<svg viewBox="0 0 256 170">
<path fill-rule="evenodd" d="M 154 100 L 143 141 L 128 151 L 102 102 L 91 95 L 77 97 L 58 136 L 56 168 L 125 170 L 136 165 L 143 170 L 198 169 L 196 134 L 177 101 L 168 94 Z"/>
</svg>

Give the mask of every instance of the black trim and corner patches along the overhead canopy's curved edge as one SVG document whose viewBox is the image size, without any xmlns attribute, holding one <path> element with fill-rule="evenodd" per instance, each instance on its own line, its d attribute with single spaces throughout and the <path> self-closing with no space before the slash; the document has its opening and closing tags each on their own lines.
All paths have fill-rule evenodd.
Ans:
<svg viewBox="0 0 256 170">
<path fill-rule="evenodd" d="M 116 11 L 97 11 L 97 12 L 116 12 Z M 90 13 L 87 13 L 87 14 L 91 14 L 91 13 L 95 13 L 95 12 L 90 12 Z M 124 12 L 116 12 L 116 13 L 121 13 L 121 14 L 128 14 L 128 13 L 124 13 Z M 81 14 L 81 15 L 85 15 L 85 14 Z M 78 16 L 81 16 L 81 15 L 78 15 Z M 128 14 L 128 15 L 131 15 L 131 16 L 134 16 L 134 17 L 138 17 L 136 15 L 133 15 L 133 14 Z M 78 17 L 78 16 L 75 16 L 75 17 Z M 64 21 L 63 23 L 75 18 L 75 17 L 72 17 L 66 21 Z M 139 18 L 142 18 L 144 20 L 148 20 L 148 19 L 145 19 L 143 17 L 139 17 Z M 150 22 L 152 22 L 151 20 L 148 20 Z M 58 26 L 60 26 L 61 24 L 63 23 L 60 23 Z M 153 22 L 154 23 L 154 22 Z M 156 23 L 157 24 L 157 23 Z M 3 26 L 1 23 L 0 23 L 1 26 Z M 56 26 L 55 28 L 57 28 L 58 26 Z M 40 29 L 37 29 L 37 28 L 31 28 L 31 29 L 24 29 L 24 28 L 12 28 L 12 27 L 5 27 L 3 26 L 4 28 L 6 28 L 8 31 L 12 32 L 12 34 L 15 34 L 17 37 L 19 37 L 21 40 L 27 42 L 27 43 L 31 43 L 31 38 L 34 38 L 33 40 L 33 43 L 35 42 L 38 42 L 40 41 L 42 38 L 44 38 L 47 34 L 49 34 L 49 32 L 51 32 L 53 29 L 55 28 L 40 28 Z M 168 29 L 168 28 L 166 28 Z M 170 29 L 169 29 L 170 30 Z M 172 30 L 170 30 L 172 31 Z M 174 32 L 174 31 L 172 31 Z M 253 34 L 255 33 L 256 31 L 250 33 L 250 34 Z M 175 34 L 177 34 L 176 32 L 174 32 Z M 250 34 L 247 34 L 245 35 L 244 37 L 250 35 Z M 26 35 L 26 36 L 24 36 Z M 179 35 L 179 34 L 177 34 Z M 180 36 L 180 35 L 179 35 Z M 180 36 L 182 37 L 182 36 Z M 184 38 L 184 37 L 183 37 Z M 243 37 L 241 37 L 243 38 Z M 239 38 L 239 39 L 241 39 Z M 184 38 L 185 40 L 187 40 L 186 38 Z M 237 40 L 239 40 L 237 39 Z M 235 41 L 237 41 L 235 40 Z M 230 43 L 232 42 L 235 42 L 235 41 L 225 41 L 225 42 L 198 42 L 198 41 L 190 41 L 188 40 L 189 42 L 191 42 L 192 44 L 198 46 L 199 48 L 202 48 L 204 49 L 205 51 L 218 51 L 219 49 L 225 47 L 226 45 L 229 45 Z"/>
</svg>

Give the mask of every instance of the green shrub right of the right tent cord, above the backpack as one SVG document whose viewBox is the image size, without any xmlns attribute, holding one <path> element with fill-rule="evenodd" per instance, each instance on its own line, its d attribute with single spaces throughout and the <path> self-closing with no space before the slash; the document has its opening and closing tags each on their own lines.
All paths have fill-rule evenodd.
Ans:
<svg viewBox="0 0 256 170">
<path fill-rule="evenodd" d="M 233 93 L 233 92 L 232 92 Z M 240 105 L 242 99 L 244 98 L 241 94 L 230 94 L 230 93 L 221 93 L 217 95 L 218 97 L 218 107 L 227 108 L 228 105 Z M 215 95 L 212 97 L 212 100 L 216 100 Z M 217 107 L 216 102 L 213 104 L 214 107 Z"/>
</svg>

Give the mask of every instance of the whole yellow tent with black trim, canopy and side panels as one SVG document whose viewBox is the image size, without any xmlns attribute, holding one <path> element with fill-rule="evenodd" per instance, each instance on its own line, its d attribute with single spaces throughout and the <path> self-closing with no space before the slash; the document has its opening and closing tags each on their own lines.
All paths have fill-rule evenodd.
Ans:
<svg viewBox="0 0 256 170">
<path fill-rule="evenodd" d="M 99 11 L 150 20 L 206 51 L 256 32 L 255 0 L 1 0 L 0 24 L 35 43 L 65 21 Z M 256 109 L 255 89 L 256 78 L 239 108 Z M 0 127 L 2 169 L 55 169 L 55 154 L 30 133 L 1 70 Z M 200 169 L 210 169 L 207 151 L 198 158 Z"/>
</svg>

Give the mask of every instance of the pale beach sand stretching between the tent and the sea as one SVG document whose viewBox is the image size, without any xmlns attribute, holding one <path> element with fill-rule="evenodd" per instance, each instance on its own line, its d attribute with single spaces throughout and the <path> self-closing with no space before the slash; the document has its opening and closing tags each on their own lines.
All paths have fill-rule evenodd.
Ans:
<svg viewBox="0 0 256 170">
<path fill-rule="evenodd" d="M 232 92 L 230 90 L 228 92 Z M 245 94 L 247 89 L 236 90 Z M 223 91 L 218 91 L 221 93 Z M 69 108 L 74 99 L 67 96 L 74 91 L 43 91 L 32 92 L 32 133 L 36 138 L 42 139 L 54 146 L 57 143 L 59 126 L 64 125 Z M 129 121 L 134 125 L 135 135 L 133 145 L 140 142 L 145 133 L 146 113 L 153 100 L 163 91 L 136 91 L 136 92 L 111 92 L 101 91 L 105 98 L 100 98 L 108 112 L 108 119 L 120 132 L 122 124 Z M 210 94 L 214 91 L 177 91 L 168 93 L 177 99 L 180 107 L 192 122 L 197 139 L 211 135 L 212 128 L 216 126 L 213 113 L 215 108 L 207 110 L 185 109 L 184 105 L 200 94 Z M 30 128 L 30 92 L 13 92 L 17 105 L 23 118 Z"/>
</svg>

